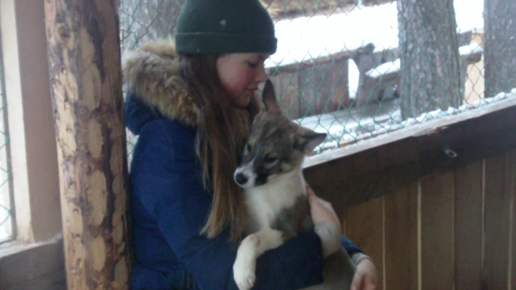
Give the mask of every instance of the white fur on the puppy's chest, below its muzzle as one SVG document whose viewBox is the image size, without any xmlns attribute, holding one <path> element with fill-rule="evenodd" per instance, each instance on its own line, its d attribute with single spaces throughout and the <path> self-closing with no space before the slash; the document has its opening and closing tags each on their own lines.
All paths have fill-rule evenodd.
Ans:
<svg viewBox="0 0 516 290">
<path fill-rule="evenodd" d="M 265 185 L 245 190 L 247 233 L 270 227 L 278 214 L 294 206 L 300 195 L 306 195 L 301 169 L 278 176 Z"/>
</svg>

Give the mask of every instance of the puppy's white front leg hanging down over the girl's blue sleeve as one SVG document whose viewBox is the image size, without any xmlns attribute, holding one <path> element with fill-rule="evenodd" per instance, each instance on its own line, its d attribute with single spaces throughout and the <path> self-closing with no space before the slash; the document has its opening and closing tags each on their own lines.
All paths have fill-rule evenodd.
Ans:
<svg viewBox="0 0 516 290">
<path fill-rule="evenodd" d="M 251 289 L 256 280 L 256 259 L 265 251 L 283 244 L 282 233 L 271 228 L 263 229 L 247 236 L 238 247 L 237 258 L 233 264 L 233 275 L 238 289 Z"/>
</svg>

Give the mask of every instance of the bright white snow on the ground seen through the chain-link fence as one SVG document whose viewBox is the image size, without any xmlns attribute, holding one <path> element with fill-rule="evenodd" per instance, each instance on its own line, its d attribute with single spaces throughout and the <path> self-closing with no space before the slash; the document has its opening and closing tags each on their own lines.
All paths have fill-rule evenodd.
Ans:
<svg viewBox="0 0 516 290">
<path fill-rule="evenodd" d="M 483 0 L 454 0 L 457 32 L 482 29 Z M 368 43 L 375 50 L 398 47 L 396 2 L 373 7 L 357 6 L 331 16 L 299 17 L 275 24 L 278 50 L 265 63 L 267 68 L 355 50 Z M 356 95 L 358 69 L 349 63 L 350 97 Z"/>
</svg>

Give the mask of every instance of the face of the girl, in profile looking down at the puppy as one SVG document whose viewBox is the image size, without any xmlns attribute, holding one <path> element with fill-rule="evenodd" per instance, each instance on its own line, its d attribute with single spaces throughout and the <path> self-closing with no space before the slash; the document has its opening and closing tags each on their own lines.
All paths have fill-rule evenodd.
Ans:
<svg viewBox="0 0 516 290">
<path fill-rule="evenodd" d="M 245 108 L 258 84 L 267 80 L 263 63 L 264 53 L 228 53 L 217 58 L 217 74 L 222 88 L 234 105 Z"/>
</svg>

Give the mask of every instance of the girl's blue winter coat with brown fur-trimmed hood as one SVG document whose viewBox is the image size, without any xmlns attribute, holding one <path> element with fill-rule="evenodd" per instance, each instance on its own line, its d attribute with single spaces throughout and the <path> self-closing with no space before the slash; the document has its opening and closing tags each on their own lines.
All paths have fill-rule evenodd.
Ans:
<svg viewBox="0 0 516 290">
<path fill-rule="evenodd" d="M 236 290 L 232 267 L 237 245 L 229 242 L 229 231 L 214 239 L 200 234 L 212 196 L 203 188 L 195 156 L 198 109 L 175 75 L 173 48 L 164 54 L 160 45 L 124 63 L 131 91 L 125 121 L 139 136 L 130 169 L 132 289 Z M 344 237 L 343 244 L 350 254 L 360 251 Z M 321 242 L 312 231 L 261 256 L 253 289 L 318 284 L 322 267 Z"/>
</svg>

